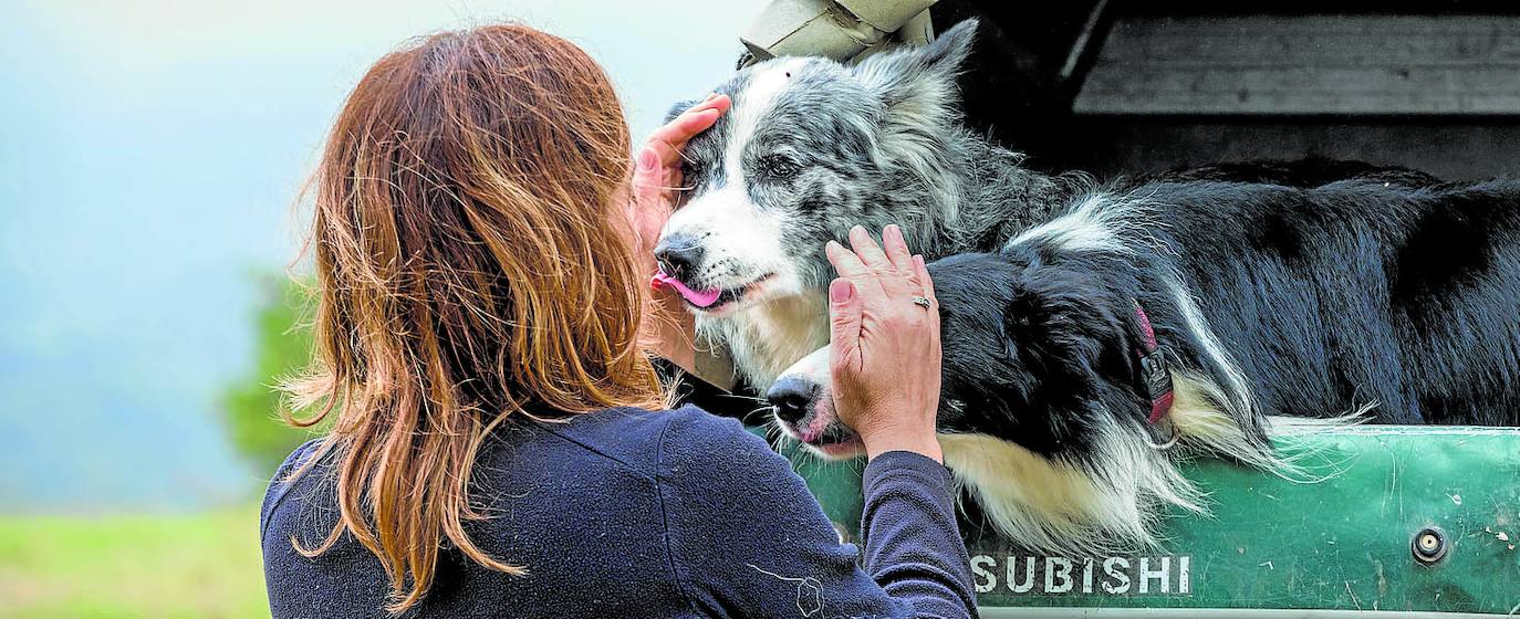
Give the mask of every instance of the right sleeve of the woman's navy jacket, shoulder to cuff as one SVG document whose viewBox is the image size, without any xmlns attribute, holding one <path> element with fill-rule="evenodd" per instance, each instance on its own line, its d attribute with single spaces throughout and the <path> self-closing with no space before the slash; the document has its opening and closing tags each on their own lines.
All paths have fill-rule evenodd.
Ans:
<svg viewBox="0 0 1520 619">
<path fill-rule="evenodd" d="M 866 467 L 862 569 L 859 549 L 839 542 L 803 479 L 760 437 L 692 408 L 670 416 L 657 481 L 670 566 L 693 610 L 722 617 L 976 616 L 948 475 L 938 463 L 885 454 Z M 898 464 L 907 470 L 897 472 Z"/>
</svg>

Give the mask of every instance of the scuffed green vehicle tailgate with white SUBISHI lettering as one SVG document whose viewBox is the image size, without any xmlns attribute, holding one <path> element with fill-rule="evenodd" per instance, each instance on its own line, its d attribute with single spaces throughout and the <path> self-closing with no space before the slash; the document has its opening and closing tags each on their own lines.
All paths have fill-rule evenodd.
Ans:
<svg viewBox="0 0 1520 619">
<path fill-rule="evenodd" d="M 997 607 L 1520 610 L 1520 429 L 1366 426 L 1300 441 L 1322 481 L 1187 464 L 1211 516 L 1170 514 L 1160 551 L 1035 557 L 970 533 L 980 604 L 990 616 L 1003 614 Z M 863 463 L 786 455 L 856 536 Z M 1432 526 L 1441 543 L 1426 542 L 1444 555 L 1427 564 L 1411 543 Z M 1079 613 L 1094 614 L 1105 613 Z"/>
</svg>

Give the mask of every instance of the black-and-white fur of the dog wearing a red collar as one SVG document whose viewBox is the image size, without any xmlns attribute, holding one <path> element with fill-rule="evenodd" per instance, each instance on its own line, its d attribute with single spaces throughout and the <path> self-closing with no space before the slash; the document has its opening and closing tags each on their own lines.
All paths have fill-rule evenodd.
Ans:
<svg viewBox="0 0 1520 619">
<path fill-rule="evenodd" d="M 1269 416 L 1520 425 L 1515 181 L 1152 182 L 930 275 L 945 463 L 1038 549 L 1146 543 L 1157 507 L 1199 511 L 1183 457 L 1283 470 Z M 1146 422 L 1137 305 L 1170 363 L 1175 431 Z M 827 349 L 777 385 L 795 381 L 839 455 Z"/>
</svg>

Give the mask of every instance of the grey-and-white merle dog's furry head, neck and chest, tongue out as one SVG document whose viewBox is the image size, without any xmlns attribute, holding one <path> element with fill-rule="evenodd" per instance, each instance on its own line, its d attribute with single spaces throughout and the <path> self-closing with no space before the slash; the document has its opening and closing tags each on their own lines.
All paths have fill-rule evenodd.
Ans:
<svg viewBox="0 0 1520 619">
<path fill-rule="evenodd" d="M 661 241 L 701 247 L 678 275 L 725 296 L 693 308 L 698 329 L 752 388 L 828 341 L 825 241 L 897 223 L 927 258 L 996 250 L 1064 203 L 1066 182 L 961 124 L 955 76 L 974 29 L 854 67 L 781 58 L 717 88 L 733 108 L 687 144 Z"/>
</svg>

